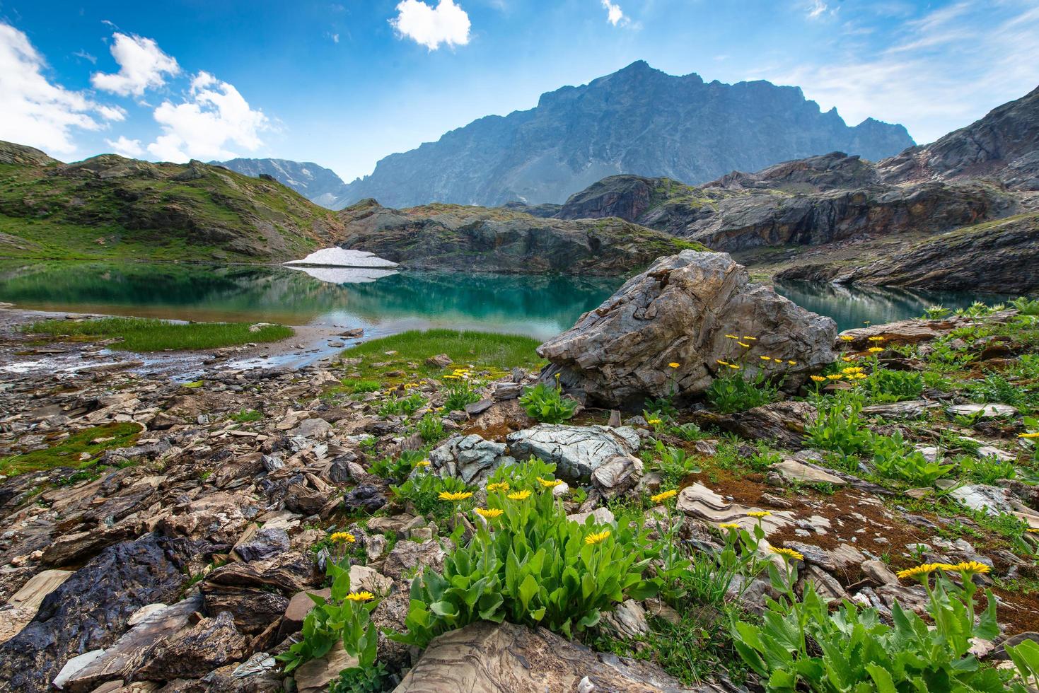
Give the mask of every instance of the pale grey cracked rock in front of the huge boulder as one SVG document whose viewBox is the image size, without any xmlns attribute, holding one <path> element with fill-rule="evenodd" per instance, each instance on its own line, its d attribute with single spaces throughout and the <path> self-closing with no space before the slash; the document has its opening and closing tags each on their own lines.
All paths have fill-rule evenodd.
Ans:
<svg viewBox="0 0 1039 693">
<path fill-rule="evenodd" d="M 629 426 L 538 424 L 509 433 L 506 441 L 516 459 L 539 457 L 556 464 L 558 478 L 584 483 L 615 457 L 633 456 L 640 445 L 639 434 Z"/>
</svg>

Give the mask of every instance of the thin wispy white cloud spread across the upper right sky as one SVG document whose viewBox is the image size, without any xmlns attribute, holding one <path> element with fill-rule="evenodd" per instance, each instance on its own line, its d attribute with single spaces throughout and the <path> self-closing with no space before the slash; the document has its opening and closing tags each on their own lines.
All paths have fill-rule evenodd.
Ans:
<svg viewBox="0 0 1039 693">
<path fill-rule="evenodd" d="M 856 47 L 844 59 L 757 76 L 801 86 L 849 124 L 867 116 L 901 123 L 925 143 L 1035 88 L 1039 68 L 1024 59 L 1032 55 L 1039 55 L 1039 6 L 1032 0 L 961 2 L 905 22 L 886 49 Z"/>
</svg>

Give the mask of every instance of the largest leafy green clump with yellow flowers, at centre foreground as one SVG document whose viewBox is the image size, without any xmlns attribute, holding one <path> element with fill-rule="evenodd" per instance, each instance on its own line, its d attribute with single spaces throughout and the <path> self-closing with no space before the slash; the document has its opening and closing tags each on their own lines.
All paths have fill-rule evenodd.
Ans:
<svg viewBox="0 0 1039 693">
<path fill-rule="evenodd" d="M 570 638 L 598 623 L 603 610 L 657 592 L 642 578 L 650 556 L 641 526 L 595 526 L 591 517 L 579 525 L 550 490 L 524 490 L 488 496 L 502 514 L 447 555 L 443 575 L 427 568 L 411 583 L 407 630 L 391 637 L 424 647 L 473 621 L 508 620 Z"/>
</svg>

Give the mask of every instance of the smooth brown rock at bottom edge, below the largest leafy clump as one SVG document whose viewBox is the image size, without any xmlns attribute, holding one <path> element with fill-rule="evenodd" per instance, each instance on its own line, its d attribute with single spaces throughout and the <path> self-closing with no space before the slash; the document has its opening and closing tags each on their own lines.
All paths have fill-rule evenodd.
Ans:
<svg viewBox="0 0 1039 693">
<path fill-rule="evenodd" d="M 720 692 L 684 687 L 656 665 L 595 652 L 545 629 L 479 621 L 433 639 L 395 693 Z"/>
</svg>

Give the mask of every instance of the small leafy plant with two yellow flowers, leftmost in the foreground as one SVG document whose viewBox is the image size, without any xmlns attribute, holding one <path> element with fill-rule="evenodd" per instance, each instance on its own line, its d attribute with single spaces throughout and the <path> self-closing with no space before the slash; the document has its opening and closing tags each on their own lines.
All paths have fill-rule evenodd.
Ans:
<svg viewBox="0 0 1039 693">
<path fill-rule="evenodd" d="M 314 608 L 303 619 L 300 640 L 277 656 L 286 673 L 300 664 L 324 657 L 339 643 L 357 658 L 357 667 L 368 669 L 375 663 L 378 631 L 371 622 L 377 602 L 369 592 L 350 591 L 350 571 L 334 562 L 328 564 L 331 590 L 328 598 L 308 594 Z"/>
</svg>

